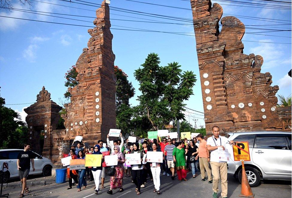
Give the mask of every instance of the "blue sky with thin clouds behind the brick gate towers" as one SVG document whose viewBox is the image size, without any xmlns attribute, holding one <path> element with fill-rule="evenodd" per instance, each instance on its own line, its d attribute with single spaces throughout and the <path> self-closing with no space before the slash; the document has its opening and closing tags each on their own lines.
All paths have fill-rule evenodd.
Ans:
<svg viewBox="0 0 292 198">
<path fill-rule="evenodd" d="M 87 6 L 76 3 L 64 2 L 60 0 L 38 0 L 32 1 L 31 10 L 51 13 L 63 13 L 70 15 L 81 15 L 95 17 L 95 11 L 99 6 Z M 42 1 L 42 2 L 41 2 Z M 74 1 L 79 2 L 80 1 Z M 91 3 L 100 4 L 102 1 L 85 0 Z M 182 7 L 190 9 L 189 1 L 183 0 L 137 0 L 141 2 L 162 4 L 173 7 Z M 239 0 L 238 0 L 239 1 Z M 287 1 L 287 0 L 285 0 Z M 63 7 L 60 4 L 72 7 L 83 8 L 87 10 L 76 9 L 72 7 Z M 266 1 L 248 1 L 253 3 L 265 4 L 261 8 L 256 5 L 252 7 L 234 6 L 222 1 L 212 1 L 219 3 L 223 7 L 223 14 L 251 16 L 253 19 L 261 18 L 260 20 L 245 19 L 238 17 L 246 27 L 264 28 L 264 29 L 283 29 L 291 30 L 291 25 L 283 25 L 283 22 L 291 24 L 291 9 L 279 10 L 269 9 L 268 6 L 275 5 Z M 247 2 L 247 1 L 246 1 Z M 12 4 L 15 8 L 28 10 L 28 6 L 20 4 L 13 0 Z M 226 5 L 223 5 L 226 4 Z M 93 5 L 93 4 L 92 4 Z M 287 4 L 281 4 L 286 5 Z M 288 6 L 291 4 L 288 4 Z M 248 5 L 244 5 L 248 6 Z M 162 7 L 150 4 L 142 4 L 126 0 L 111 0 L 110 7 L 118 7 L 128 10 L 135 10 L 146 13 L 154 13 L 167 16 L 181 17 L 192 19 L 191 10 L 178 9 L 172 7 Z M 125 13 L 117 10 L 110 10 L 110 18 L 113 34 L 112 50 L 115 54 L 115 65 L 118 65 L 129 76 L 129 80 L 133 83 L 136 89 L 136 95 L 130 100 L 132 105 L 137 105 L 137 96 L 140 95 L 138 90 L 139 84 L 135 80 L 134 70 L 139 68 L 144 63 L 145 58 L 151 52 L 158 53 L 161 65 L 177 61 L 182 65 L 182 70 L 192 70 L 199 78 L 199 69 L 197 62 L 196 44 L 194 38 L 194 29 L 189 22 L 175 21 L 162 19 L 157 17 L 142 16 L 133 13 Z M 52 16 L 43 16 L 20 11 L 0 10 L 1 16 L 9 16 L 15 18 L 33 19 L 48 22 L 59 22 L 77 24 L 83 26 L 93 26 L 93 18 L 62 16 L 72 19 L 85 20 L 82 22 L 70 19 L 61 19 Z M 54 15 L 49 14 L 47 15 Z M 123 15 L 123 16 L 120 16 Z M 55 15 L 60 16 L 60 15 Z M 130 16 L 130 17 L 129 17 Z M 224 15 L 223 15 L 224 16 Z M 226 15 L 225 15 L 226 16 Z M 138 17 L 143 19 L 131 18 Z M 266 19 L 263 19 L 266 18 Z M 66 71 L 76 63 L 77 58 L 82 53 L 82 49 L 87 47 L 87 42 L 90 35 L 87 33 L 89 27 L 66 26 L 60 24 L 51 24 L 35 21 L 26 21 L 20 19 L 11 19 L 1 17 L 0 23 L 0 86 L 1 97 L 5 98 L 6 104 L 22 104 L 34 103 L 36 95 L 42 89 L 42 86 L 51 93 L 51 98 L 56 103 L 59 98 L 64 100 L 63 94 L 66 91 L 64 86 Z M 150 21 L 157 20 L 163 22 L 182 23 L 190 25 L 177 24 L 162 24 L 149 22 L 130 22 L 114 19 Z M 271 19 L 280 19 L 288 21 L 279 21 Z M 264 21 L 266 20 L 266 21 Z M 273 22 L 271 22 L 273 21 Z M 282 23 L 279 23 L 282 22 Z M 251 26 L 253 25 L 253 26 Z M 254 25 L 273 25 L 273 26 L 254 26 Z M 119 27 L 124 26 L 124 27 Z M 159 32 L 136 32 L 117 29 L 148 29 L 164 32 L 183 32 L 190 33 L 186 35 L 174 35 Z M 262 32 L 266 30 L 246 29 L 246 32 Z M 264 64 L 261 67 L 261 72 L 270 72 L 273 76 L 273 84 L 279 85 L 278 94 L 288 96 L 291 94 L 291 78 L 288 76 L 288 71 L 291 69 L 291 44 L 276 44 L 276 43 L 291 43 L 291 32 L 271 32 L 258 33 L 264 35 L 245 34 L 243 39 L 244 53 L 261 55 L 264 58 Z M 268 36 L 276 35 L 282 37 Z M 288 38 L 287 38 L 288 37 Z M 260 42 L 247 42 L 260 41 Z M 200 87 L 200 79 L 197 80 L 193 88 L 194 95 L 190 97 L 187 104 L 188 108 L 203 112 L 203 101 Z M 22 105 L 7 105 L 14 110 L 17 110 L 25 117 L 23 108 L 31 104 Z M 196 115 L 191 110 L 185 112 L 186 120 L 194 125 L 193 119 L 198 119 L 197 126 L 204 125 L 203 117 Z M 193 116 L 193 117 L 191 117 Z M 197 118 L 195 118 L 197 117 Z"/>
</svg>

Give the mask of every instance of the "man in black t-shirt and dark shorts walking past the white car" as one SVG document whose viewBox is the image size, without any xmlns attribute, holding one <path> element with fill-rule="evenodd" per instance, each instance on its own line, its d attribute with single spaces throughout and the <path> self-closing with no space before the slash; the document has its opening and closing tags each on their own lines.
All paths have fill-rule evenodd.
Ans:
<svg viewBox="0 0 292 198">
<path fill-rule="evenodd" d="M 24 150 L 20 151 L 18 156 L 17 156 L 17 170 L 18 170 L 18 175 L 20 178 L 20 182 L 22 182 L 22 191 L 19 197 L 24 197 L 24 191 L 25 193 L 29 193 L 27 184 L 26 184 L 26 178 L 29 174 L 29 170 L 31 168 L 32 164 L 32 170 L 35 171 L 34 169 L 34 154 L 33 152 L 29 151 L 30 145 L 25 144 L 24 145 Z"/>
</svg>

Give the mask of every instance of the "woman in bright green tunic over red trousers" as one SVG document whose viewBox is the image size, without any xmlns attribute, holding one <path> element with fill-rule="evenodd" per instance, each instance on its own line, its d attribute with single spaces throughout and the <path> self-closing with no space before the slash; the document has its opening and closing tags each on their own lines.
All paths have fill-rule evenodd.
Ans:
<svg viewBox="0 0 292 198">
<path fill-rule="evenodd" d="M 186 179 L 187 170 L 185 167 L 185 149 L 183 142 L 178 142 L 178 146 L 174 148 L 172 155 L 174 157 L 174 163 L 177 168 L 178 180 L 181 181 L 183 179 L 185 181 L 188 181 Z"/>
</svg>

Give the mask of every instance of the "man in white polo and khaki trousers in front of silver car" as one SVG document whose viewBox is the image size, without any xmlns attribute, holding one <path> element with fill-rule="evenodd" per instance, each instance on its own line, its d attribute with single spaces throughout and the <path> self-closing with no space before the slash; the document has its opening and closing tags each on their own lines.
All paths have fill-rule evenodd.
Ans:
<svg viewBox="0 0 292 198">
<path fill-rule="evenodd" d="M 219 161 L 218 148 L 222 148 L 224 151 L 226 144 L 235 145 L 236 143 L 220 136 L 220 130 L 217 126 L 212 128 L 212 133 L 212 137 L 207 139 L 207 149 L 211 152 L 210 164 L 213 175 L 213 198 L 217 198 L 219 178 L 221 178 L 221 197 L 227 198 L 227 162 Z"/>
</svg>

